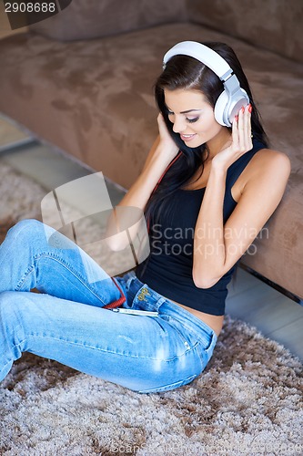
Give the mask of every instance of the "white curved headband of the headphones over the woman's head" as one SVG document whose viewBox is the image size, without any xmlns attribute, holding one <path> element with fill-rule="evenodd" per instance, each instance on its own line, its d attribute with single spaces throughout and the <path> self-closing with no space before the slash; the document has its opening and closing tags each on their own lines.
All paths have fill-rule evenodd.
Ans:
<svg viewBox="0 0 303 456">
<path fill-rule="evenodd" d="M 210 49 L 210 47 L 201 45 L 196 41 L 182 41 L 169 49 L 167 54 L 163 57 L 163 69 L 167 66 L 167 62 L 171 57 L 178 55 L 196 58 L 212 69 L 223 82 L 226 81 L 233 72 L 223 57 L 219 56 L 217 52 Z"/>
</svg>

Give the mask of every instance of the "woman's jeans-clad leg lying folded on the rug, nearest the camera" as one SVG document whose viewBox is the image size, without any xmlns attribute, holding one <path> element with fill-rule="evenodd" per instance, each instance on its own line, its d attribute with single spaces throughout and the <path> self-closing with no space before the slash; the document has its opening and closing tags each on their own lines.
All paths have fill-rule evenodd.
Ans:
<svg viewBox="0 0 303 456">
<path fill-rule="evenodd" d="M 189 347 L 165 316 L 119 314 L 29 292 L 2 293 L 0 380 L 25 351 L 138 391 L 176 388 L 202 369 L 198 339 Z"/>
</svg>

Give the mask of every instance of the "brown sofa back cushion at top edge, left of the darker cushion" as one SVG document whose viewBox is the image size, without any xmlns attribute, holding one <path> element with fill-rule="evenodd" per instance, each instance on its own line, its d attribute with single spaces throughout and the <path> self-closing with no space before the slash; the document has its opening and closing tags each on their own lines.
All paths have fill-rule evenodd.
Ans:
<svg viewBox="0 0 303 456">
<path fill-rule="evenodd" d="M 29 26 L 59 41 L 116 35 L 187 18 L 186 0 L 73 0 L 56 16 Z"/>
</svg>

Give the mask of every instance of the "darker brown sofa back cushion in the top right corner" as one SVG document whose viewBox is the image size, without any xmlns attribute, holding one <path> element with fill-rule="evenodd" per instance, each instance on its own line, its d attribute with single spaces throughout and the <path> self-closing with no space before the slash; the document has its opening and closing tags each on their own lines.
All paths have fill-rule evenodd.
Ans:
<svg viewBox="0 0 303 456">
<path fill-rule="evenodd" d="M 190 22 L 303 62 L 303 0 L 187 0 Z"/>
</svg>

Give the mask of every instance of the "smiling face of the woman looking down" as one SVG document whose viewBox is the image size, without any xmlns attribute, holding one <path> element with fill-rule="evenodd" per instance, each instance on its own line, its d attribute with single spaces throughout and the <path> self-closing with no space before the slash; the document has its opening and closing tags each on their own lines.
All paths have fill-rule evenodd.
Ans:
<svg viewBox="0 0 303 456">
<path fill-rule="evenodd" d="M 168 119 L 188 147 L 205 144 L 227 130 L 217 123 L 214 109 L 200 91 L 177 88 L 165 89 L 164 94 Z"/>
</svg>

